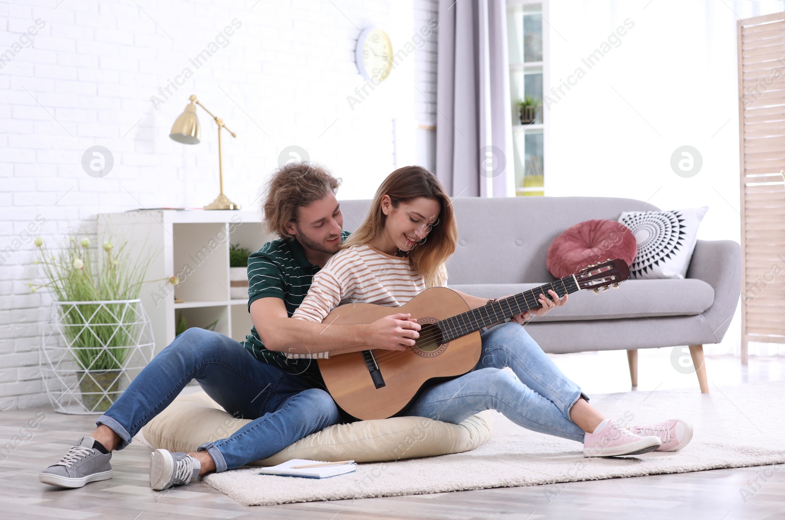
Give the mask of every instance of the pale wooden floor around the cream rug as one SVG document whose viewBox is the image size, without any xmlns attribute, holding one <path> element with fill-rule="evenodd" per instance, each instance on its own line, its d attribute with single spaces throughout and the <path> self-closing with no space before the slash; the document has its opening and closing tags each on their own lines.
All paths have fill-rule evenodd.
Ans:
<svg viewBox="0 0 785 520">
<path fill-rule="evenodd" d="M 618 360 L 616 358 L 619 358 Z M 626 355 L 579 353 L 554 357 L 564 372 L 579 380 L 588 394 L 630 390 Z M 668 354 L 641 352 L 639 391 L 691 386 L 697 382 L 668 370 Z M 732 357 L 707 357 L 710 383 L 743 384 L 780 380 L 785 360 L 751 358 L 742 367 Z M 582 377 L 575 377 L 579 372 Z M 674 379 L 670 372 L 677 373 Z M 608 377 L 615 374 L 615 377 Z M 656 375 L 656 376 L 655 376 Z M 769 396 L 781 403 L 782 396 Z M 776 412 L 781 412 L 778 409 Z M 43 418 L 27 432 L 27 423 Z M 148 485 L 149 452 L 130 445 L 115 452 L 114 478 L 82 489 L 58 489 L 38 482 L 38 471 L 64 455 L 93 428 L 95 416 L 66 416 L 51 408 L 0 412 L 0 439 L 26 440 L 8 456 L 0 455 L 0 518 L 785 518 L 785 471 L 779 467 L 614 478 L 590 482 L 520 488 L 481 489 L 435 495 L 338 500 L 280 506 L 245 507 L 203 482 L 164 492 Z M 783 442 L 785 445 L 785 442 Z M 467 468 L 466 471 L 470 471 Z M 439 478 L 439 475 L 433 475 Z M 755 483 L 757 479 L 758 483 Z M 746 493 L 743 493 L 746 492 Z M 746 496 L 745 496 L 746 495 Z M 745 501 L 746 498 L 746 501 Z"/>
</svg>

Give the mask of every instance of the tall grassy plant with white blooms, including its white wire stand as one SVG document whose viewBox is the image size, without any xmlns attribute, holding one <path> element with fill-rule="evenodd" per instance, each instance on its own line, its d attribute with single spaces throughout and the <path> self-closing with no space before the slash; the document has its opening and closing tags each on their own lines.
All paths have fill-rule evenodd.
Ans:
<svg viewBox="0 0 785 520">
<path fill-rule="evenodd" d="M 139 298 L 152 258 L 133 254 L 127 242 L 105 241 L 97 258 L 87 238 L 71 236 L 56 253 L 40 237 L 35 245 L 47 281 L 29 286 L 49 288 L 55 300 L 40 361 L 49 400 L 58 412 L 104 412 L 122 392 L 123 376 L 141 368 L 130 366 L 134 354 L 152 359 L 152 328 Z"/>
</svg>

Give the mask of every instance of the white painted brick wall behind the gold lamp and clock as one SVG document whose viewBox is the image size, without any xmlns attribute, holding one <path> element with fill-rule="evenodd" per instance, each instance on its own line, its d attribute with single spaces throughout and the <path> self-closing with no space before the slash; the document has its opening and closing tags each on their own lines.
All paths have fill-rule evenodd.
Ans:
<svg viewBox="0 0 785 520">
<path fill-rule="evenodd" d="M 28 225 L 53 241 L 79 226 L 94 233 L 98 213 L 201 207 L 217 195 L 216 126 L 206 112 L 198 109 L 200 145 L 168 138 L 190 94 L 238 135 L 224 134 L 225 191 L 244 208 L 257 206 L 288 145 L 343 178 L 341 198 L 370 197 L 392 170 L 392 120 L 433 120 L 412 85 L 435 101 L 436 33 L 353 110 L 346 98 L 364 84 L 358 28 L 382 27 L 398 49 L 435 18 L 435 0 L 136 3 L 0 2 L 0 410 L 46 402 L 38 342 L 50 299 L 26 287 L 40 280 Z M 38 19 L 45 25 L 27 46 Z M 189 58 L 235 19 L 242 27 L 195 68 Z M 163 99 L 159 88 L 186 67 L 192 77 L 154 107 L 151 97 Z M 107 177 L 82 170 L 93 145 L 114 156 Z M 416 160 L 407 149 L 398 149 L 399 164 Z"/>
</svg>

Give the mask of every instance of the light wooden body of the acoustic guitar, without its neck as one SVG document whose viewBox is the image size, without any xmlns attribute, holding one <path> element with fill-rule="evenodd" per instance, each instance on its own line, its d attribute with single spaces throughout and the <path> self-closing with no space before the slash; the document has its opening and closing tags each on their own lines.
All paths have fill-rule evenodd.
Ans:
<svg viewBox="0 0 785 520">
<path fill-rule="evenodd" d="M 348 303 L 324 324 L 370 324 L 382 317 L 411 313 L 422 325 L 417 345 L 406 350 L 371 350 L 384 386 L 374 382 L 366 357 L 352 352 L 319 360 L 319 370 L 335 402 L 357 419 L 386 419 L 406 408 L 429 379 L 466 374 L 480 361 L 480 332 L 444 342 L 436 321 L 465 313 L 469 305 L 447 287 L 431 287 L 400 307 Z"/>
</svg>

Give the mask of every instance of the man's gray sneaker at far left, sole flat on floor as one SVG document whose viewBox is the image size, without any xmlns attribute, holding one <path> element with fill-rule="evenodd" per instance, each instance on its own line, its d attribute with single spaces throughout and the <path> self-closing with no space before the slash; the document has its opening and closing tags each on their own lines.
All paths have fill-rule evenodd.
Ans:
<svg viewBox="0 0 785 520">
<path fill-rule="evenodd" d="M 38 480 L 61 488 L 81 488 L 88 482 L 111 478 L 111 452 L 102 452 L 97 444 L 92 437 L 82 437 L 60 462 L 39 473 Z"/>
</svg>

